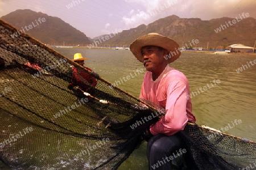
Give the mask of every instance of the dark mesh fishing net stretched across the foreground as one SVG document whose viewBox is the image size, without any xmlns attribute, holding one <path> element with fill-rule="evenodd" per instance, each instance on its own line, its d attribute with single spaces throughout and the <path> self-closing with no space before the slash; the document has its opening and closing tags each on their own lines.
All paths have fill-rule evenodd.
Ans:
<svg viewBox="0 0 256 170">
<path fill-rule="evenodd" d="M 0 160 L 9 167 L 117 169 L 164 114 L 38 40 L 23 33 L 12 37 L 18 29 L 3 20 L 0 31 Z M 70 87 L 72 66 L 95 76 L 97 85 L 84 79 L 88 88 Z M 253 141 L 196 124 L 181 134 L 188 169 L 189 160 L 195 169 L 238 169 L 255 162 Z"/>
</svg>

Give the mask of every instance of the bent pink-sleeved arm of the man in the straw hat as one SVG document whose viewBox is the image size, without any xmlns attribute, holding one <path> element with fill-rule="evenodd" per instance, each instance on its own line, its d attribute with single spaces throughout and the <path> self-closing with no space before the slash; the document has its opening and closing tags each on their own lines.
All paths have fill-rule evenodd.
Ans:
<svg viewBox="0 0 256 170">
<path fill-rule="evenodd" d="M 185 128 L 188 122 L 187 95 L 186 85 L 181 80 L 175 80 L 168 85 L 166 115 L 150 126 L 153 135 L 173 135 Z"/>
</svg>

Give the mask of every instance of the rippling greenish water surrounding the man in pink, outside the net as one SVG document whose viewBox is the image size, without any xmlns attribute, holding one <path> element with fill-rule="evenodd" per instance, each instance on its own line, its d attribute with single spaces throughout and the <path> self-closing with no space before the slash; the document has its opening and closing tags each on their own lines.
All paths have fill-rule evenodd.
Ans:
<svg viewBox="0 0 256 170">
<path fill-rule="evenodd" d="M 135 76 L 134 71 L 144 68 L 129 50 L 56 50 L 69 58 L 73 58 L 75 53 L 82 53 L 88 58 L 85 65 L 110 83 L 132 74 L 133 78 L 123 81 L 118 87 L 139 96 L 144 73 Z M 256 64 L 249 63 L 254 59 L 256 56 L 182 53 L 177 61 L 171 63 L 171 67 L 183 72 L 189 80 L 191 93 L 194 92 L 192 104 L 197 124 L 219 130 L 229 126 L 225 133 L 256 141 Z M 242 71 L 237 73 L 240 67 Z M 214 80 L 220 83 L 214 83 Z M 236 124 L 235 120 L 242 123 Z M 147 169 L 146 142 L 119 169 Z"/>
</svg>

